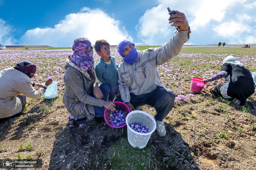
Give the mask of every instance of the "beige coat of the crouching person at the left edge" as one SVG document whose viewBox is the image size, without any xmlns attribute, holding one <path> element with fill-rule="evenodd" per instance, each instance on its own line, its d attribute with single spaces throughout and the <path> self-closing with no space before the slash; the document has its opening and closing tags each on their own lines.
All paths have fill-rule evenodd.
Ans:
<svg viewBox="0 0 256 170">
<path fill-rule="evenodd" d="M 38 99 L 44 92 L 44 88 L 36 91 L 31 79 L 13 67 L 0 71 L 0 118 L 10 117 L 22 110 L 21 101 L 16 96 L 23 94 Z"/>
</svg>

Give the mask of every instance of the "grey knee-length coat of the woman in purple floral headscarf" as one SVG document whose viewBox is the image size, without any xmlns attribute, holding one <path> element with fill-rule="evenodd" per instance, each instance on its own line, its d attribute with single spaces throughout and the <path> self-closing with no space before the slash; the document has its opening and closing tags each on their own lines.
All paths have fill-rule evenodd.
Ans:
<svg viewBox="0 0 256 170">
<path fill-rule="evenodd" d="M 92 80 L 70 66 L 69 61 L 66 61 L 66 72 L 63 77 L 65 83 L 63 103 L 73 117 L 78 119 L 87 117 L 87 121 L 92 120 L 95 116 L 93 106 L 102 107 L 104 100 L 90 96 L 93 90 Z"/>
</svg>

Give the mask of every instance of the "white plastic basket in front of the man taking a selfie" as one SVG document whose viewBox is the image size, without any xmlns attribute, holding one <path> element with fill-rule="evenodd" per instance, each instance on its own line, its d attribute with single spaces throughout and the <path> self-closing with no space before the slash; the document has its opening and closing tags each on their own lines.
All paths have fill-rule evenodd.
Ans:
<svg viewBox="0 0 256 170">
<path fill-rule="evenodd" d="M 126 116 L 127 135 L 130 145 L 134 148 L 144 148 L 151 134 L 156 130 L 156 121 L 154 117 L 144 111 L 134 110 Z M 131 124 L 145 124 L 148 127 L 149 133 L 139 133 L 134 131 Z"/>
</svg>

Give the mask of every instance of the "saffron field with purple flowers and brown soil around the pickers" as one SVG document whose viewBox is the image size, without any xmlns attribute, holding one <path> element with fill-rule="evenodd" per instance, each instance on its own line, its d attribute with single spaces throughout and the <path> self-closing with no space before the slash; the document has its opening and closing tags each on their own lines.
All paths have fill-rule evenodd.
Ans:
<svg viewBox="0 0 256 170">
<path fill-rule="evenodd" d="M 161 84 L 176 95 L 175 106 L 164 119 L 166 136 L 154 132 L 143 149 L 129 145 L 126 126 L 114 129 L 95 120 L 77 125 L 68 119 L 62 96 L 70 54 L 71 49 L 0 51 L 0 70 L 29 60 L 37 65 L 32 81 L 43 83 L 51 77 L 58 82 L 58 97 L 28 98 L 23 115 L 0 124 L 0 159 L 43 159 L 40 169 L 255 169 L 256 95 L 244 106 L 213 96 L 209 88 L 223 79 L 206 83 L 201 93 L 189 89 L 192 77 L 217 74 L 228 55 L 256 72 L 254 46 L 183 47 L 159 66 Z M 115 48 L 111 55 L 121 63 Z M 95 63 L 100 59 L 95 51 L 94 58 Z M 156 114 L 148 105 L 141 110 Z M 70 126 L 79 128 L 70 131 Z"/>
</svg>

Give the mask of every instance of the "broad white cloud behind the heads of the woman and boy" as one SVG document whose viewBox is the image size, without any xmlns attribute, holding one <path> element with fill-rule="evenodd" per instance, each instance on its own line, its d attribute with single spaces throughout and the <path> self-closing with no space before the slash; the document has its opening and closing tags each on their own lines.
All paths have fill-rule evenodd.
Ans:
<svg viewBox="0 0 256 170">
<path fill-rule="evenodd" d="M 30 41 L 28 39 L 28 34 Z M 74 39 L 86 37 L 92 44 L 105 39 L 116 45 L 122 39 L 133 40 L 120 21 L 109 17 L 99 9 L 83 8 L 78 13 L 68 14 L 54 28 L 35 28 L 28 30 L 20 38 L 20 44 L 72 46 Z"/>
</svg>

